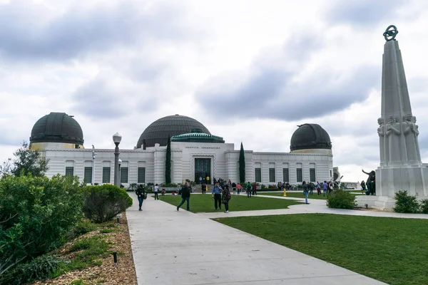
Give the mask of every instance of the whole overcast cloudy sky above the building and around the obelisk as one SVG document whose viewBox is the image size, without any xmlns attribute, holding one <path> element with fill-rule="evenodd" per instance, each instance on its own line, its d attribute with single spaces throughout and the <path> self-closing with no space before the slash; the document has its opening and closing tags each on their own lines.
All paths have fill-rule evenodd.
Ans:
<svg viewBox="0 0 428 285">
<path fill-rule="evenodd" d="M 50 112 L 74 115 L 86 147 L 119 132 L 128 149 L 178 113 L 259 152 L 320 124 L 343 180 L 366 180 L 390 24 L 428 162 L 426 0 L 0 0 L 0 159 Z"/>
</svg>

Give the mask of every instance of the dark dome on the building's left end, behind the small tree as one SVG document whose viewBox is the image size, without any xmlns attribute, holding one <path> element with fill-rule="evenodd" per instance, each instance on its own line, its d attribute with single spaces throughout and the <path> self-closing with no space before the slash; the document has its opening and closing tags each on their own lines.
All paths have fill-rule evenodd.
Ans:
<svg viewBox="0 0 428 285">
<path fill-rule="evenodd" d="M 41 117 L 31 130 L 30 143 L 63 142 L 83 145 L 81 126 L 66 113 L 50 113 Z"/>
</svg>

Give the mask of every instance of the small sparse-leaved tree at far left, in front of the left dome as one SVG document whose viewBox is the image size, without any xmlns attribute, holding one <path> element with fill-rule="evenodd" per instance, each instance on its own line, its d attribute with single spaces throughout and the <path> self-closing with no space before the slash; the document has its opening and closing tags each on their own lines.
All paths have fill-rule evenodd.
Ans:
<svg viewBox="0 0 428 285">
<path fill-rule="evenodd" d="M 22 142 L 22 146 L 14 152 L 15 159 L 9 165 L 9 173 L 6 173 L 6 162 L 1 169 L 2 174 L 12 174 L 16 177 L 21 175 L 31 175 L 33 177 L 43 177 L 49 170 L 49 159 L 41 156 L 37 150 L 30 150 L 28 142 Z"/>
</svg>

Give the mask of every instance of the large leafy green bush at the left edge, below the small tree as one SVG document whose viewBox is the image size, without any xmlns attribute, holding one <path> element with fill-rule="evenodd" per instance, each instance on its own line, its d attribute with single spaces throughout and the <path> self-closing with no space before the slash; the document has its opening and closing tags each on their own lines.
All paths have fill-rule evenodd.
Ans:
<svg viewBox="0 0 428 285">
<path fill-rule="evenodd" d="M 0 179 L 0 275 L 58 247 L 82 218 L 78 177 Z"/>
</svg>

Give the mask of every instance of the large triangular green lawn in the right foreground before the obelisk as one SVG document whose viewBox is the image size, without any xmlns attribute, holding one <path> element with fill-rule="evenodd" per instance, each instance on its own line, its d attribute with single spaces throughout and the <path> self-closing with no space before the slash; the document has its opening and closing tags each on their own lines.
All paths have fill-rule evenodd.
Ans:
<svg viewBox="0 0 428 285">
<path fill-rule="evenodd" d="M 339 214 L 215 220 L 387 284 L 428 284 L 428 220 Z"/>
</svg>

